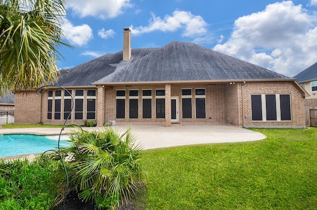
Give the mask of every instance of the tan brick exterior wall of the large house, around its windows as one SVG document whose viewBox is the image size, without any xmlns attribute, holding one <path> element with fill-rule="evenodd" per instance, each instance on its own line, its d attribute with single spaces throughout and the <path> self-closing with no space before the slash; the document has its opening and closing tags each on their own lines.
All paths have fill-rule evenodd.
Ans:
<svg viewBox="0 0 317 210">
<path fill-rule="evenodd" d="M 206 118 L 196 119 L 195 89 L 205 89 Z M 79 88 L 80 89 L 80 88 Z M 165 90 L 165 119 L 156 118 L 156 90 Z M 192 90 L 192 118 L 182 118 L 182 89 Z M 82 89 L 81 89 L 82 90 Z M 116 90 L 125 90 L 125 118 L 116 119 Z M 129 119 L 129 90 L 138 90 L 138 119 Z M 152 90 L 152 118 L 142 118 L 142 90 Z M 43 96 L 37 94 L 16 94 L 16 122 L 43 122 L 45 124 L 62 124 L 64 120 L 48 120 L 48 92 Z M 290 94 L 291 121 L 252 121 L 251 95 L 256 94 Z M 170 99 L 178 98 L 179 123 L 230 123 L 245 127 L 305 127 L 305 110 L 302 93 L 292 82 L 236 82 L 235 84 L 167 84 L 167 85 L 133 85 L 97 87 L 96 120 L 98 126 L 105 121 L 116 123 L 165 123 L 171 125 Z M 72 90 L 74 97 L 75 90 Z M 41 113 L 42 97 L 42 113 Z M 54 99 L 53 99 L 54 100 Z M 86 90 L 84 94 L 84 119 L 86 117 Z M 61 96 L 63 112 L 63 94 Z M 53 103 L 54 110 L 54 103 Z M 42 119 L 40 118 L 42 116 Z M 83 124 L 83 120 L 72 119 L 68 123 Z M 244 117 L 246 116 L 246 117 Z M 63 115 L 61 114 L 61 119 Z"/>
</svg>

